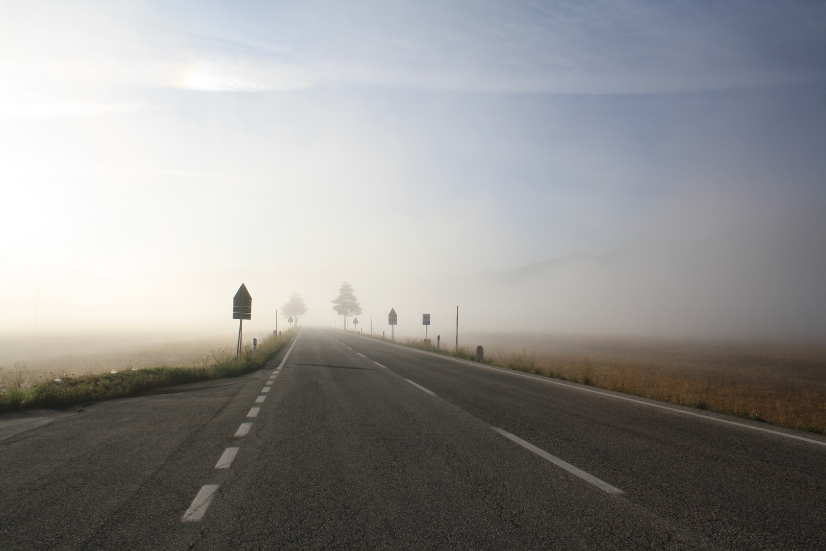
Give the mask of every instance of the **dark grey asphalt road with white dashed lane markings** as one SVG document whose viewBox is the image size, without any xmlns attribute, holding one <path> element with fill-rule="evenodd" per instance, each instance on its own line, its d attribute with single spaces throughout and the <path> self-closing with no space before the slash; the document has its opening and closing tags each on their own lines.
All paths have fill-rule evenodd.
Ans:
<svg viewBox="0 0 826 551">
<path fill-rule="evenodd" d="M 821 436 L 336 330 L 283 356 L 14 421 L 0 549 L 826 549 Z"/>
</svg>

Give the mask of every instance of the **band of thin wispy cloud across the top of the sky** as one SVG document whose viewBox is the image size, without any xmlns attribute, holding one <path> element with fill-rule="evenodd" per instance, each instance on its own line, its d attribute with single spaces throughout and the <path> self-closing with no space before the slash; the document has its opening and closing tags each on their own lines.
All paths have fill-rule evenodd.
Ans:
<svg viewBox="0 0 826 551">
<path fill-rule="evenodd" d="M 669 93 L 823 81 L 818 2 L 279 2 L 16 7 L 3 87 Z M 59 17 L 60 14 L 64 17 Z M 33 36 L 32 36 L 33 35 Z M 13 65 L 17 64 L 17 69 Z"/>
</svg>

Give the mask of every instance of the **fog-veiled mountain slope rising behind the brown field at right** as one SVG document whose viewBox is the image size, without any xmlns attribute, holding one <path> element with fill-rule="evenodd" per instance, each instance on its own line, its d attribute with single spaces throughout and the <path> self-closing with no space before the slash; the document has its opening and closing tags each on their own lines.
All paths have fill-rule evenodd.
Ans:
<svg viewBox="0 0 826 551">
<path fill-rule="evenodd" d="M 826 210 L 710 239 L 639 240 L 463 278 L 468 316 L 512 330 L 811 338 L 826 335 Z M 487 297 L 487 298 L 486 298 Z"/>
</svg>

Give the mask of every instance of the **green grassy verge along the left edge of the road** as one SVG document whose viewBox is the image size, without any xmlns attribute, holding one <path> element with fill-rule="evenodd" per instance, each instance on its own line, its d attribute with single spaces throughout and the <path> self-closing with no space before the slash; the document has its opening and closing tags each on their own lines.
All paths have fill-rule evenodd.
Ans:
<svg viewBox="0 0 826 551">
<path fill-rule="evenodd" d="M 12 373 L 2 373 L 0 412 L 35 407 L 63 407 L 105 398 L 136 396 L 159 387 L 207 379 L 237 377 L 263 367 L 287 344 L 294 333 L 259 339 L 258 358 L 253 359 L 252 344 L 244 346 L 235 359 L 235 349 L 213 350 L 202 357 L 200 365 L 126 369 L 116 373 L 90 373 L 80 377 L 65 374 L 46 382 L 28 384 L 17 364 Z"/>
</svg>

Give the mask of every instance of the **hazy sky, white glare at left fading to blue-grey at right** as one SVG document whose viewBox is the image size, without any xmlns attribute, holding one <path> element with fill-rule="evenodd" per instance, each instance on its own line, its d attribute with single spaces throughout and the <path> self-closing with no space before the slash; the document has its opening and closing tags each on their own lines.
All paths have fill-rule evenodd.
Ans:
<svg viewBox="0 0 826 551">
<path fill-rule="evenodd" d="M 0 326 L 710 235 L 824 151 L 824 2 L 0 2 Z"/>
</svg>

